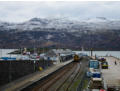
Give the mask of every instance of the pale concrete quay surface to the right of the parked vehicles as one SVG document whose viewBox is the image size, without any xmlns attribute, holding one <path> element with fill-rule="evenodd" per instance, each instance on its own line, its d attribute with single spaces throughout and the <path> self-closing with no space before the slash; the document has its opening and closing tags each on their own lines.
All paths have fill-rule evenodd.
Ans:
<svg viewBox="0 0 120 91">
<path fill-rule="evenodd" d="M 107 87 L 120 88 L 120 59 L 104 57 L 108 62 L 108 69 L 102 69 L 103 79 Z"/>
</svg>

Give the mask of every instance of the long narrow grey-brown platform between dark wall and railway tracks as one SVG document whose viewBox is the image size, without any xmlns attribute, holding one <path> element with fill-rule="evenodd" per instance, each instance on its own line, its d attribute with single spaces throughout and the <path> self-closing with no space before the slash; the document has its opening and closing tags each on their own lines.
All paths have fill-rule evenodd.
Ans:
<svg viewBox="0 0 120 91">
<path fill-rule="evenodd" d="M 43 71 L 39 71 L 39 72 L 35 72 L 33 74 L 27 75 L 25 77 L 22 77 L 18 80 L 15 80 L 5 86 L 3 86 L 2 88 L 0 88 L 0 91 L 20 91 L 21 89 L 33 84 L 34 82 L 42 79 L 43 77 L 49 75 L 50 73 L 55 72 L 56 70 L 60 69 L 61 67 L 71 63 L 73 61 L 73 59 L 66 61 L 66 62 L 62 62 L 59 64 L 55 64 L 52 67 L 43 70 Z"/>
</svg>

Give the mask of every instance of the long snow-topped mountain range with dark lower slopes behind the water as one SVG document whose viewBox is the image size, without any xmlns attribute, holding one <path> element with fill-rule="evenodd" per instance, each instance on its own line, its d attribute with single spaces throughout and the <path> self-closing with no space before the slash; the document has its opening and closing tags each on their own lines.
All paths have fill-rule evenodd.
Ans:
<svg viewBox="0 0 120 91">
<path fill-rule="evenodd" d="M 0 47 L 66 47 L 120 50 L 120 20 L 32 18 L 23 23 L 0 21 Z"/>
</svg>

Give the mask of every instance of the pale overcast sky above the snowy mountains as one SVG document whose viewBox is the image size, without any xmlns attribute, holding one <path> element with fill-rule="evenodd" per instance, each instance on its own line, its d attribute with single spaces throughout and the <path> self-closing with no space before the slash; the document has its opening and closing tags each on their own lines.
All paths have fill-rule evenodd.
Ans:
<svg viewBox="0 0 120 91">
<path fill-rule="evenodd" d="M 33 17 L 120 19 L 120 2 L 0 2 L 2 21 L 23 22 Z"/>
</svg>

